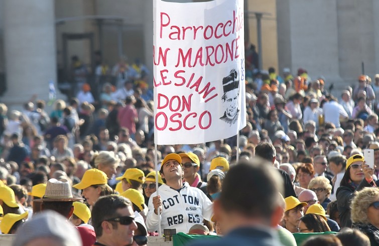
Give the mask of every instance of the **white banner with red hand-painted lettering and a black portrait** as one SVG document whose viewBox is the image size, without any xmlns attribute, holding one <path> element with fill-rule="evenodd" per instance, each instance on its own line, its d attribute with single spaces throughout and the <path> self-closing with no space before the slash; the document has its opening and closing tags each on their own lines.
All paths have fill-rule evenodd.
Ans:
<svg viewBox="0 0 379 246">
<path fill-rule="evenodd" d="M 154 0 L 156 144 L 229 138 L 246 125 L 243 0 Z"/>
</svg>

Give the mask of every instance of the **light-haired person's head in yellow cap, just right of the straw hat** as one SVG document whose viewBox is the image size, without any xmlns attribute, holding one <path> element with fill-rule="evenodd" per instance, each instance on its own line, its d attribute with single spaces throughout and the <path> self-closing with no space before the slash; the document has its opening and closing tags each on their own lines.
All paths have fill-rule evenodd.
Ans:
<svg viewBox="0 0 379 246">
<path fill-rule="evenodd" d="M 72 186 L 82 190 L 82 196 L 90 206 L 93 206 L 100 196 L 114 194 L 113 189 L 107 184 L 108 179 L 103 171 L 96 168 L 85 171 L 80 183 Z"/>
</svg>

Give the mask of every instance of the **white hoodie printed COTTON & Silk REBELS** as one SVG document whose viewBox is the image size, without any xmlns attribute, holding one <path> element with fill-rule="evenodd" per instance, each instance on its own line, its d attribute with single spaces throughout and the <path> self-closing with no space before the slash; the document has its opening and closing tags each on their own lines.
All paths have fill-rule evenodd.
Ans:
<svg viewBox="0 0 379 246">
<path fill-rule="evenodd" d="M 162 199 L 161 225 L 163 229 L 176 229 L 176 232 L 188 233 L 194 224 L 203 224 L 203 219 L 209 220 L 213 214 L 213 205 L 209 198 L 196 187 L 187 182 L 178 192 L 170 186 L 163 184 L 158 188 Z M 154 212 L 153 197 L 149 199 L 149 212 L 146 226 L 149 231 L 158 230 L 158 215 Z"/>
</svg>

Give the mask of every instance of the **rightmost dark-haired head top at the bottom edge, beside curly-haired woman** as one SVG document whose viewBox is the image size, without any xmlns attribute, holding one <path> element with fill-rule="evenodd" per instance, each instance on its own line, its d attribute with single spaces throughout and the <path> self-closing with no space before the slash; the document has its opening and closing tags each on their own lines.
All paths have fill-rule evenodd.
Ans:
<svg viewBox="0 0 379 246">
<path fill-rule="evenodd" d="M 338 234 L 336 234 L 338 239 L 341 241 L 343 246 L 370 246 L 370 239 L 367 235 L 360 232 L 357 229 L 351 229 L 348 227 L 342 228 Z"/>
</svg>

